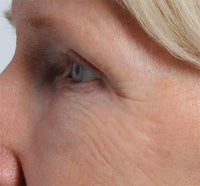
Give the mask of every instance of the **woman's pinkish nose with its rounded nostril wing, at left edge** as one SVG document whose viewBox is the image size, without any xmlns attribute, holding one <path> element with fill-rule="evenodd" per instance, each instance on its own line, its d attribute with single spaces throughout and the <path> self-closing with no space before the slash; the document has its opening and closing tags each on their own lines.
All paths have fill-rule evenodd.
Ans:
<svg viewBox="0 0 200 186">
<path fill-rule="evenodd" d="M 24 185 L 19 161 L 27 141 L 24 76 L 23 70 L 13 64 L 0 74 L 0 186 Z"/>
</svg>

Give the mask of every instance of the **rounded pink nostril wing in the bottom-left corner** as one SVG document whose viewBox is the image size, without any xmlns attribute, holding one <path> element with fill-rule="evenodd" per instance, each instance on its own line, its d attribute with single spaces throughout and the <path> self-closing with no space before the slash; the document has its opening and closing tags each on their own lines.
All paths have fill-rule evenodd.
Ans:
<svg viewBox="0 0 200 186">
<path fill-rule="evenodd" d="M 5 147 L 0 147 L 0 185 L 26 185 L 19 161 L 15 155 Z"/>
</svg>

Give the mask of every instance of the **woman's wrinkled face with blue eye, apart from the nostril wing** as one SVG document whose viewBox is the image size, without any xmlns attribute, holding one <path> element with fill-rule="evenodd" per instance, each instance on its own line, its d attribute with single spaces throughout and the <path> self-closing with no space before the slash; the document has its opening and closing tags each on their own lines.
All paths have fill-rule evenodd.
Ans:
<svg viewBox="0 0 200 186">
<path fill-rule="evenodd" d="M 0 146 L 27 185 L 198 185 L 197 70 L 114 1 L 14 0 L 13 22 Z"/>
</svg>

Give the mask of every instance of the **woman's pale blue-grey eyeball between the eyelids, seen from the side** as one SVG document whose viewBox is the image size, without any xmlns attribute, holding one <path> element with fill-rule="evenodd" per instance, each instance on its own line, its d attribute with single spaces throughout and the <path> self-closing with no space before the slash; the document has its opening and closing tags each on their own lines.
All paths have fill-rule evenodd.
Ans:
<svg viewBox="0 0 200 186">
<path fill-rule="evenodd" d="M 77 63 L 72 64 L 71 77 L 75 83 L 82 83 L 95 79 L 100 79 L 100 76 L 98 74 Z"/>
</svg>

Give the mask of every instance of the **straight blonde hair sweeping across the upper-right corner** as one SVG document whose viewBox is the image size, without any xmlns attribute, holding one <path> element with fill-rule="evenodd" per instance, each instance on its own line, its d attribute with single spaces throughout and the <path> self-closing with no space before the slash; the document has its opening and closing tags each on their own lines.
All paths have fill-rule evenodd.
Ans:
<svg viewBox="0 0 200 186">
<path fill-rule="evenodd" d="M 119 2 L 119 1 L 118 1 Z M 199 0 L 120 0 L 171 54 L 200 68 Z"/>
</svg>

